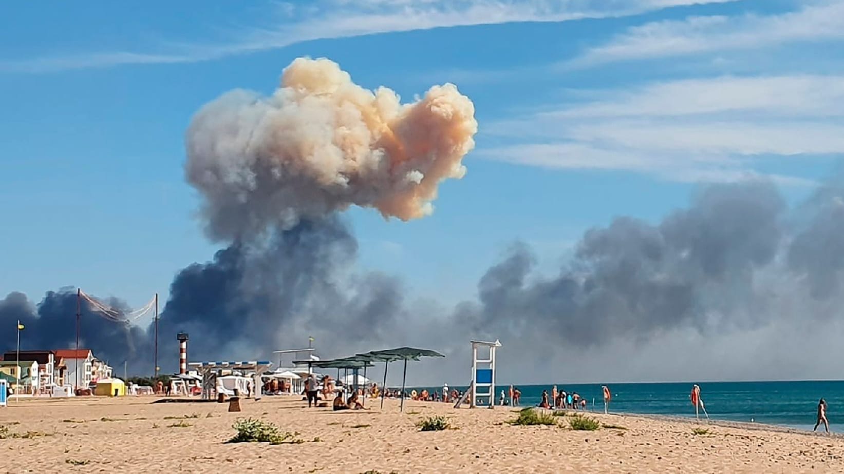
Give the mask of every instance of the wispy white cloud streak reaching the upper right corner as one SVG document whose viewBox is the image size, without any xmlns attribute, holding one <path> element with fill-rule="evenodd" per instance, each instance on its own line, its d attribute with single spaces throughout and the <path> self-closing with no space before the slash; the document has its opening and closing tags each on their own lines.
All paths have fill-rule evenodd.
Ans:
<svg viewBox="0 0 844 474">
<path fill-rule="evenodd" d="M 844 39 L 844 2 L 825 0 L 787 13 L 698 16 L 643 24 L 607 44 L 587 50 L 566 66 L 589 67 L 606 62 L 841 39 Z"/>
</svg>

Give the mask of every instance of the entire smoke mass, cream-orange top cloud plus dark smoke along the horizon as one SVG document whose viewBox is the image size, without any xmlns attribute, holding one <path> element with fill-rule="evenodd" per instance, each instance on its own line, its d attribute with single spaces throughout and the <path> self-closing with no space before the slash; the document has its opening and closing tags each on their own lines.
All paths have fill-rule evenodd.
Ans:
<svg viewBox="0 0 844 474">
<path fill-rule="evenodd" d="M 330 340 L 332 355 L 431 344 L 458 356 L 446 380 L 463 374 L 470 337 L 500 337 L 500 374 L 517 380 L 837 376 L 825 369 L 844 333 L 840 177 L 791 210 L 771 183 L 746 181 L 707 187 L 656 224 L 616 218 L 588 230 L 552 276 L 518 245 L 485 272 L 477 301 L 439 319 L 409 309 L 396 278 L 354 272 L 357 242 L 339 212 L 430 213 L 437 184 L 463 175 L 476 128 L 451 85 L 400 105 L 327 60 L 296 60 L 271 97 L 235 91 L 206 105 L 187 132 L 186 174 L 208 235 L 228 246 L 176 275 L 162 341 L 190 333 L 192 360 L 254 358 L 309 335 Z M 74 313 L 69 291 L 37 310 L 12 293 L 0 327 L 20 319 L 26 348 L 70 347 Z M 133 371 L 152 372 L 151 333 L 84 307 L 84 346 Z M 801 337 L 826 357 L 783 350 Z M 0 344 L 14 348 L 14 331 Z M 176 358 L 162 365 L 175 370 Z"/>
</svg>

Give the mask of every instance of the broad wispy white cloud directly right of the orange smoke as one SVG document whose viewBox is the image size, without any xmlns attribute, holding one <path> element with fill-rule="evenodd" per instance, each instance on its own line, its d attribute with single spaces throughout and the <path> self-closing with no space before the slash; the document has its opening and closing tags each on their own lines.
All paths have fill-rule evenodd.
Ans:
<svg viewBox="0 0 844 474">
<path fill-rule="evenodd" d="M 841 76 L 680 80 L 587 96 L 592 100 L 490 124 L 488 137 L 511 144 L 482 148 L 477 156 L 732 181 L 758 178 L 753 164 L 763 157 L 844 154 Z"/>
</svg>

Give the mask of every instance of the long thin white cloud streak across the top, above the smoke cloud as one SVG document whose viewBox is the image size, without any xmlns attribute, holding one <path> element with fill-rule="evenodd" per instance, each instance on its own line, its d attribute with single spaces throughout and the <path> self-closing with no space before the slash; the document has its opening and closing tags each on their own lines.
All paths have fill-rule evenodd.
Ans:
<svg viewBox="0 0 844 474">
<path fill-rule="evenodd" d="M 323 0 L 295 6 L 277 3 L 269 27 L 234 32 L 215 44 L 173 45 L 166 51 L 106 51 L 0 60 L 0 72 L 45 73 L 124 64 L 201 62 L 268 51 L 296 43 L 360 35 L 478 24 L 563 22 L 627 16 L 648 11 L 736 0 Z"/>
</svg>

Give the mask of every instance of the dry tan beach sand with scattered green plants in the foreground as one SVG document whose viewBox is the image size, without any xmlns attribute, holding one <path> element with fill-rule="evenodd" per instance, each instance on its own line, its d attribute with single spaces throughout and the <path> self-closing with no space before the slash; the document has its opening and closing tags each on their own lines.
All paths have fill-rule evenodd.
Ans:
<svg viewBox="0 0 844 474">
<path fill-rule="evenodd" d="M 510 407 L 377 402 L 371 411 L 308 409 L 295 397 L 228 403 L 151 403 L 153 397 L 12 401 L 0 408 L 0 472 L 827 472 L 844 471 L 844 439 L 759 427 L 594 414 L 627 429 L 511 426 Z M 419 432 L 421 418 L 453 429 Z M 173 417 L 185 417 L 176 419 Z M 300 444 L 226 444 L 231 424 L 259 417 Z M 561 424 L 568 426 L 565 417 Z M 82 422 L 82 423 L 74 423 Z M 184 425 L 184 426 L 174 426 Z"/>
</svg>

